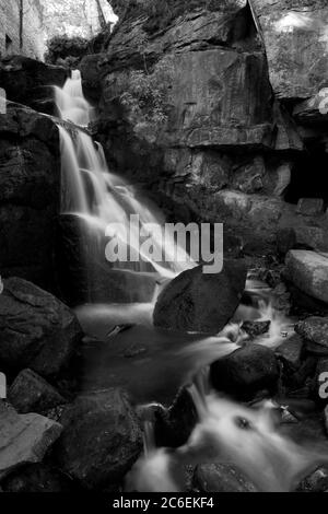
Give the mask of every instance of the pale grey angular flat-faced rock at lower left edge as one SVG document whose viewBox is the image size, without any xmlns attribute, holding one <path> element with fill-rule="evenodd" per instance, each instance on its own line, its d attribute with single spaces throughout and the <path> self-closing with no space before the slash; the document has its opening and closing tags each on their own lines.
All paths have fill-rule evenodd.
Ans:
<svg viewBox="0 0 328 514">
<path fill-rule="evenodd" d="M 17 414 L 0 401 L 0 479 L 27 463 L 43 460 L 62 427 L 39 414 Z"/>
</svg>

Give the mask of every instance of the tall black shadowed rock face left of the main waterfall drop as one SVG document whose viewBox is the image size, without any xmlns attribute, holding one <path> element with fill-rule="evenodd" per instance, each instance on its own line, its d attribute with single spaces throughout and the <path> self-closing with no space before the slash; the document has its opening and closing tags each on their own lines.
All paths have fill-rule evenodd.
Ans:
<svg viewBox="0 0 328 514">
<path fill-rule="evenodd" d="M 24 107 L 0 114 L 0 268 L 54 288 L 55 219 L 59 211 L 58 130 Z"/>
</svg>

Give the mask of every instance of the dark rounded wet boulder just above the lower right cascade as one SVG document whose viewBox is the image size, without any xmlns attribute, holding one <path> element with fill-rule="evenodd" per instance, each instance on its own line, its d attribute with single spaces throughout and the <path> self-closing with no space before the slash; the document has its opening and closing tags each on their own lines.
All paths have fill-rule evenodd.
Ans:
<svg viewBox="0 0 328 514">
<path fill-rule="evenodd" d="M 274 392 L 279 365 L 274 352 L 258 344 L 246 344 L 211 365 L 213 387 L 238 399 L 253 399 L 258 392 Z"/>
</svg>

